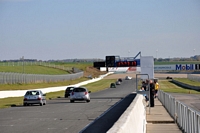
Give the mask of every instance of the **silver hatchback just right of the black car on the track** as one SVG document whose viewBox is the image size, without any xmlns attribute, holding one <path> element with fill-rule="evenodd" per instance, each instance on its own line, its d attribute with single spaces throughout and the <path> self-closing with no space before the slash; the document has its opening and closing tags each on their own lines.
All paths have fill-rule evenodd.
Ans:
<svg viewBox="0 0 200 133">
<path fill-rule="evenodd" d="M 74 101 L 86 101 L 90 102 L 90 93 L 85 87 L 75 87 L 70 93 L 70 102 Z"/>
</svg>

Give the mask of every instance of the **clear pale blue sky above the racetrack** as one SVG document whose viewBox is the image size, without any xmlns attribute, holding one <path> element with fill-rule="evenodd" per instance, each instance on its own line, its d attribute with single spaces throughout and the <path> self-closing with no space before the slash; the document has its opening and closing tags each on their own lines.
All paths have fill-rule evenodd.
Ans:
<svg viewBox="0 0 200 133">
<path fill-rule="evenodd" d="M 0 0 L 0 60 L 200 55 L 200 0 Z"/>
</svg>

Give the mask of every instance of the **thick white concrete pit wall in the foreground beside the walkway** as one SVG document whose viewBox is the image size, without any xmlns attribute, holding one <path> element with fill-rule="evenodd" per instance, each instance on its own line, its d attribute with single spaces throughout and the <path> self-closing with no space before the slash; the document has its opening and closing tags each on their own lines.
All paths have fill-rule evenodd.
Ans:
<svg viewBox="0 0 200 133">
<path fill-rule="evenodd" d="M 137 94 L 133 102 L 107 133 L 146 133 L 146 111 L 143 95 Z"/>
</svg>

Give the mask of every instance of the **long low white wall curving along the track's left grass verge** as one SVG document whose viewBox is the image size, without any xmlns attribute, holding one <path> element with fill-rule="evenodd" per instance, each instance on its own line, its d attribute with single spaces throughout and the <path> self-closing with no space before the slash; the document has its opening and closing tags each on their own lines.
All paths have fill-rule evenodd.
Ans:
<svg viewBox="0 0 200 133">
<path fill-rule="evenodd" d="M 75 84 L 75 85 L 70 85 L 70 86 L 78 87 L 78 86 L 86 85 L 88 83 L 96 82 L 96 81 L 99 81 L 99 80 L 103 79 L 105 76 L 107 76 L 109 74 L 112 74 L 112 72 L 109 72 L 109 73 L 107 73 L 105 75 L 101 75 L 101 76 L 99 76 L 99 78 L 83 81 L 81 83 L 78 83 L 78 84 Z M 65 90 L 66 87 L 68 87 L 68 86 L 38 88 L 38 89 L 34 89 L 34 90 L 42 90 L 43 93 L 49 93 L 49 92 L 56 92 L 56 91 Z M 0 98 L 24 96 L 26 91 L 27 90 L 0 91 Z"/>
</svg>

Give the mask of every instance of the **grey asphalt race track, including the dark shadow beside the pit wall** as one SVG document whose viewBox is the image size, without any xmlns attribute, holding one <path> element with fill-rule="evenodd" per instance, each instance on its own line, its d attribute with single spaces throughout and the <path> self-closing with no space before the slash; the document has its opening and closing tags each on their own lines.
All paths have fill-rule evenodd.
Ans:
<svg viewBox="0 0 200 133">
<path fill-rule="evenodd" d="M 106 132 L 134 99 L 135 86 L 135 79 L 123 80 L 117 88 L 91 93 L 90 103 L 59 98 L 45 106 L 1 109 L 0 133 Z"/>
</svg>

